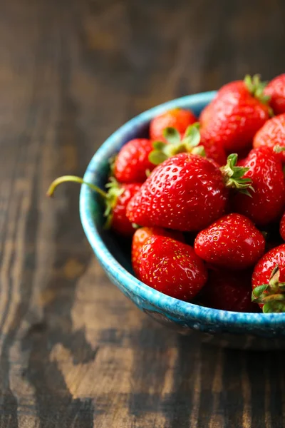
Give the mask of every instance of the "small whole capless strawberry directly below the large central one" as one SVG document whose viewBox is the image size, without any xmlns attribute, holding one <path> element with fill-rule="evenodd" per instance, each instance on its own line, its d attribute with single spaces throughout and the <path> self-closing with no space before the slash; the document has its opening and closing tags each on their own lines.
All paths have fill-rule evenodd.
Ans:
<svg viewBox="0 0 285 428">
<path fill-rule="evenodd" d="M 264 253 L 265 239 L 251 220 L 228 214 L 198 233 L 195 253 L 214 266 L 245 269 Z"/>
</svg>

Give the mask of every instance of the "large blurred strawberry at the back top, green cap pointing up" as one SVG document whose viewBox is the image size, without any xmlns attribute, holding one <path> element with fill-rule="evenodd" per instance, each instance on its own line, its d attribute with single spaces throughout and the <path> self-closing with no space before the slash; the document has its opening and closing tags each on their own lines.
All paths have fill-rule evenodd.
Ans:
<svg viewBox="0 0 285 428">
<path fill-rule="evenodd" d="M 246 76 L 223 86 L 199 118 L 203 141 L 220 143 L 226 151 L 239 152 L 252 143 L 254 134 L 269 118 L 265 83 Z"/>
</svg>

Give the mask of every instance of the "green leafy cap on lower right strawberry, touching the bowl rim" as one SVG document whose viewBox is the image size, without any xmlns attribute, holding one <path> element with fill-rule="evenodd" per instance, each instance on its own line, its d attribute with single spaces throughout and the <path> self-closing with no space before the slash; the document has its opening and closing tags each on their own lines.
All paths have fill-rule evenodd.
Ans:
<svg viewBox="0 0 285 428">
<path fill-rule="evenodd" d="M 285 312 L 285 282 L 280 282 L 280 270 L 276 265 L 268 284 L 259 285 L 252 291 L 252 302 L 264 305 L 264 313 Z"/>
</svg>

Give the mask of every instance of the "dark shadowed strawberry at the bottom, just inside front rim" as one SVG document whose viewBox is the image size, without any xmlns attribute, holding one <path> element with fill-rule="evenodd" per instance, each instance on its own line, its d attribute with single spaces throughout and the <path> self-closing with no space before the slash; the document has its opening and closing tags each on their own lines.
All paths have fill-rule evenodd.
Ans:
<svg viewBox="0 0 285 428">
<path fill-rule="evenodd" d="M 252 302 L 252 270 L 211 270 L 197 296 L 199 305 L 234 312 L 257 312 Z"/>
</svg>

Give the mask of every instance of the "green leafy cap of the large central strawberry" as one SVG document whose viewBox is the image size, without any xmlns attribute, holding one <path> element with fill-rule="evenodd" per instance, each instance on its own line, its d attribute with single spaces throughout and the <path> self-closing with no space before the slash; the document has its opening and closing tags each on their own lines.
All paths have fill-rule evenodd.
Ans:
<svg viewBox="0 0 285 428">
<path fill-rule="evenodd" d="M 249 190 L 254 192 L 252 187 L 251 178 L 243 178 L 244 174 L 249 170 L 249 168 L 244 168 L 242 166 L 237 166 L 237 154 L 232 153 L 227 158 L 227 164 L 220 168 L 222 175 L 224 177 L 224 184 L 227 188 L 237 189 L 240 193 L 248 195 L 252 198 L 252 195 L 249 193 Z"/>
</svg>

